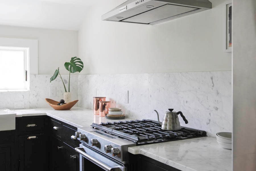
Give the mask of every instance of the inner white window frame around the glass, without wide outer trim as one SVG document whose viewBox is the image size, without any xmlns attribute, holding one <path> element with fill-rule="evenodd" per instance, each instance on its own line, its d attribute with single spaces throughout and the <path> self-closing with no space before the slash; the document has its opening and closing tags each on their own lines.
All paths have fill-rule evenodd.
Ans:
<svg viewBox="0 0 256 171">
<path fill-rule="evenodd" d="M 21 48 L 21 47 L 4 47 L 0 46 L 1 51 L 22 51 L 24 57 L 24 77 L 26 77 L 24 82 L 24 87 L 21 89 L 15 88 L 7 88 L 7 89 L 0 89 L 0 91 L 28 91 L 29 90 L 29 48 Z M 27 72 L 27 73 L 26 73 Z"/>
</svg>

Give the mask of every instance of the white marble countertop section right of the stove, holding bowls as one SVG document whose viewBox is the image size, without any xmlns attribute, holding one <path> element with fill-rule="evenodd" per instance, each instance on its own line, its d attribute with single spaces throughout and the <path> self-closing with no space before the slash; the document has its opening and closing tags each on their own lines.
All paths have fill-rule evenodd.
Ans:
<svg viewBox="0 0 256 171">
<path fill-rule="evenodd" d="M 129 147 L 132 154 L 142 154 L 182 171 L 231 171 L 232 150 L 220 147 L 215 137 L 201 137 L 172 142 Z"/>
</svg>

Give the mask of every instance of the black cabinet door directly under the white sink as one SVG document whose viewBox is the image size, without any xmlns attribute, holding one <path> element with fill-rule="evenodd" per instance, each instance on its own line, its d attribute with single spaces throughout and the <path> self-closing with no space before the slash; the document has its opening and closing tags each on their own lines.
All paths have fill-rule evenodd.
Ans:
<svg viewBox="0 0 256 171">
<path fill-rule="evenodd" d="M 0 145 L 0 170 L 11 170 L 11 147 Z"/>
</svg>

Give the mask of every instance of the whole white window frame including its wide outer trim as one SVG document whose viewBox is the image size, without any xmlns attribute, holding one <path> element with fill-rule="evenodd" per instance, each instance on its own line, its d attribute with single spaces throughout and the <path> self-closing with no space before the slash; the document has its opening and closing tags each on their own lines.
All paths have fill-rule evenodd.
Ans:
<svg viewBox="0 0 256 171">
<path fill-rule="evenodd" d="M 36 39 L 15 39 L 0 37 L 0 47 L 28 49 L 27 65 L 27 82 L 24 90 L 0 90 L 3 91 L 29 91 L 30 90 L 30 75 L 38 75 L 38 40 Z M 29 68 L 28 68 L 29 66 Z"/>
</svg>

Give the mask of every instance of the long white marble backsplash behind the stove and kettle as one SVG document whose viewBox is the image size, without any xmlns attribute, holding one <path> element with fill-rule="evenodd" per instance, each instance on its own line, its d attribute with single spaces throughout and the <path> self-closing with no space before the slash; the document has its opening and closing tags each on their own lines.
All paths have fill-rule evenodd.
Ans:
<svg viewBox="0 0 256 171">
<path fill-rule="evenodd" d="M 106 96 L 129 118 L 160 120 L 168 108 L 182 111 L 182 126 L 206 130 L 208 135 L 232 130 L 231 71 L 79 75 L 78 106 L 93 109 L 94 96 Z M 129 104 L 124 103 L 129 90 Z"/>
</svg>

